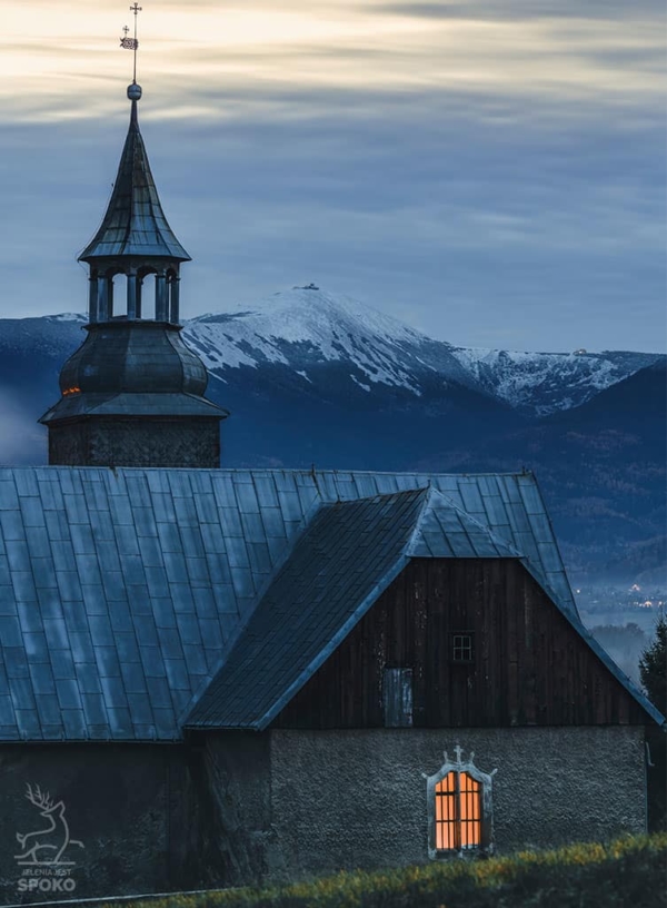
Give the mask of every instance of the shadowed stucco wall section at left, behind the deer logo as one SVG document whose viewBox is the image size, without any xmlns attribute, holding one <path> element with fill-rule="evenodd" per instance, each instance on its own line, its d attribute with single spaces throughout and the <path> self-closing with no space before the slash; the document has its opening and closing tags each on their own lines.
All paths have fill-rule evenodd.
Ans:
<svg viewBox="0 0 667 908">
<path fill-rule="evenodd" d="M 27 798 L 27 786 L 62 801 L 71 843 L 58 875 L 53 868 L 19 863 L 36 838 L 21 846 L 17 833 L 49 829 L 50 822 Z M 199 858 L 197 800 L 191 792 L 187 753 L 156 744 L 0 746 L 0 901 L 40 901 L 74 897 L 163 891 L 196 884 Z M 60 811 L 58 811 L 60 812 Z M 58 819 L 58 812 L 54 815 Z M 62 842 L 62 823 L 39 837 Z M 41 851 L 46 860 L 53 851 Z M 74 889 L 27 889 L 30 878 L 66 879 Z M 71 886 L 71 884 L 68 884 Z"/>
</svg>

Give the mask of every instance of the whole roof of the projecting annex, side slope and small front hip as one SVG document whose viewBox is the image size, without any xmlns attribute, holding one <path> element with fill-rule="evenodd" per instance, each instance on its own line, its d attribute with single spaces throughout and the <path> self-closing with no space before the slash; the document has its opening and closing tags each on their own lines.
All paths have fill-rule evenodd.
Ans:
<svg viewBox="0 0 667 908">
<path fill-rule="evenodd" d="M 266 729 L 410 557 L 515 557 L 526 564 L 514 546 L 434 488 L 323 505 L 297 540 L 217 675 L 203 685 L 186 728 Z M 541 570 L 532 573 L 542 575 L 544 584 Z M 566 618 L 628 688 L 628 679 L 578 616 L 566 612 Z M 643 694 L 628 690 L 660 721 Z"/>
</svg>

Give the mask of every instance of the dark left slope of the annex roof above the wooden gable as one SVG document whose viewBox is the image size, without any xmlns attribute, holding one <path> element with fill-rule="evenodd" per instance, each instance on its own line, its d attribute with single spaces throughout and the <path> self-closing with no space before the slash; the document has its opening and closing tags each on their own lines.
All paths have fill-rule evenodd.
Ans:
<svg viewBox="0 0 667 908">
<path fill-rule="evenodd" d="M 427 494 L 325 504 L 187 724 L 265 728 L 405 566 Z"/>
</svg>

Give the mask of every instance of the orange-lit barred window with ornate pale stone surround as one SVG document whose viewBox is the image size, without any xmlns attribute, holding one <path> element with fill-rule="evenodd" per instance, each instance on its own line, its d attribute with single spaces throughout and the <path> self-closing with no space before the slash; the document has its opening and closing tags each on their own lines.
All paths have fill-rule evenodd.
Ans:
<svg viewBox="0 0 667 908">
<path fill-rule="evenodd" d="M 492 845 L 492 777 L 472 762 L 445 752 L 445 763 L 427 781 L 428 853 L 431 858 L 464 851 L 489 851 Z"/>
</svg>

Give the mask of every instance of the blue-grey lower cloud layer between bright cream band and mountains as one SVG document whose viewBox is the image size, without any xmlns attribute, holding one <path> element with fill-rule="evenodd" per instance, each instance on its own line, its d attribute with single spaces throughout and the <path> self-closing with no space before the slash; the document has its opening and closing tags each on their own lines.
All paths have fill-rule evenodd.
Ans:
<svg viewBox="0 0 667 908">
<path fill-rule="evenodd" d="M 0 226 L 7 314 L 86 305 L 73 258 L 107 201 L 121 112 L 6 132 L 29 175 L 0 175 L 14 211 Z M 663 336 L 665 165 L 650 118 L 338 90 L 220 122 L 157 118 L 147 101 L 141 121 L 195 256 L 188 317 L 312 279 L 460 344 L 648 349 Z M 630 305 L 641 317 L 628 325 Z"/>
</svg>

